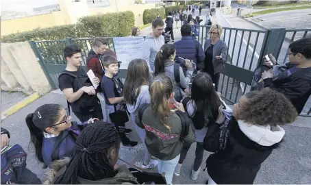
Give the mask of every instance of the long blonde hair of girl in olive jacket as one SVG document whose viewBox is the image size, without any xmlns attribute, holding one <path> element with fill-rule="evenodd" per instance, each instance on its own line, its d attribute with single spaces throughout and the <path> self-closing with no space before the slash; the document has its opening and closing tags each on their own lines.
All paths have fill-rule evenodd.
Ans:
<svg viewBox="0 0 311 185">
<path fill-rule="evenodd" d="M 171 127 L 164 122 L 164 119 L 171 114 L 168 99 L 173 93 L 173 82 L 168 76 L 161 73 L 154 77 L 149 93 L 151 97 L 151 110 L 157 114 L 164 127 L 171 132 Z"/>
</svg>

